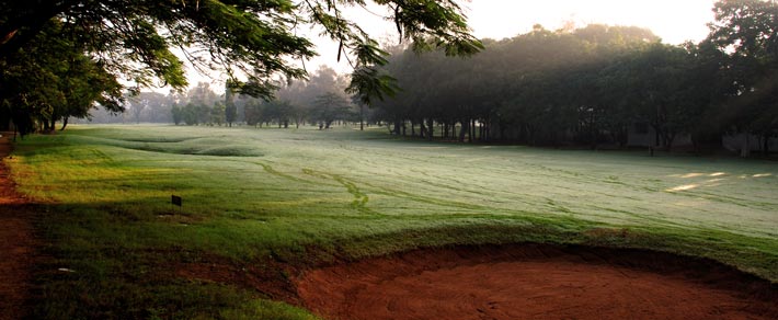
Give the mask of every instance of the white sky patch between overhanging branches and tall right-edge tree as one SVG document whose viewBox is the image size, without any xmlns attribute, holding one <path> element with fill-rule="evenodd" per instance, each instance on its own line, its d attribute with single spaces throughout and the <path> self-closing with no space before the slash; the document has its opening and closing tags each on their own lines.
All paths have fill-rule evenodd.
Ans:
<svg viewBox="0 0 778 320">
<path fill-rule="evenodd" d="M 713 21 L 713 0 L 472 0 L 469 22 L 478 37 L 512 37 L 540 23 L 556 30 L 565 21 L 650 28 L 665 43 L 701 41 Z"/>
</svg>

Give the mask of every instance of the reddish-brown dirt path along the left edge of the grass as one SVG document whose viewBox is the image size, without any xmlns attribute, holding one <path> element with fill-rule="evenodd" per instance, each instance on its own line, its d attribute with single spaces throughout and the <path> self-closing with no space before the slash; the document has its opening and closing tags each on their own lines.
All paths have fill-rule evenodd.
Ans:
<svg viewBox="0 0 778 320">
<path fill-rule="evenodd" d="M 11 152 L 8 133 L 0 133 L 0 159 Z M 35 238 L 32 210 L 15 192 L 5 163 L 0 161 L 0 319 L 21 319 L 27 311 Z"/>
</svg>

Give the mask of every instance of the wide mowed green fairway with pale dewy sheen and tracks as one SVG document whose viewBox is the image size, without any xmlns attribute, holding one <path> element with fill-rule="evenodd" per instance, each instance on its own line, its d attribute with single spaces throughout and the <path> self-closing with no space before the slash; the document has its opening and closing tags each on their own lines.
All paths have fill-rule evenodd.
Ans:
<svg viewBox="0 0 778 320">
<path fill-rule="evenodd" d="M 769 161 L 426 142 L 382 128 L 75 126 L 25 139 L 7 163 L 46 210 L 42 317 L 306 319 L 240 284 L 170 270 L 450 244 L 648 248 L 778 282 Z"/>
</svg>

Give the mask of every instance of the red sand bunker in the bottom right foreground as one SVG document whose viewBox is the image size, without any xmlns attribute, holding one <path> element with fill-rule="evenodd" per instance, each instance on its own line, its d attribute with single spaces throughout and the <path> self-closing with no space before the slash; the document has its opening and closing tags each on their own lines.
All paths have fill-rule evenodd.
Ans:
<svg viewBox="0 0 778 320">
<path fill-rule="evenodd" d="M 309 271 L 325 319 L 778 319 L 778 288 L 712 261 L 524 244 L 414 251 Z"/>
</svg>

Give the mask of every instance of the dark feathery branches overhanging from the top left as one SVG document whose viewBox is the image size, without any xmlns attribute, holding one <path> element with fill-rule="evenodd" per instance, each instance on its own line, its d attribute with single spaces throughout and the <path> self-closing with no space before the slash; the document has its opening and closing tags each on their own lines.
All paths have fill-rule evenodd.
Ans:
<svg viewBox="0 0 778 320">
<path fill-rule="evenodd" d="M 402 38 L 419 50 L 442 48 L 448 55 L 470 55 L 482 47 L 470 35 L 455 1 L 373 2 L 388 9 L 388 19 L 396 23 Z M 385 60 L 370 35 L 344 19 L 342 10 L 364 7 L 363 0 L 31 0 L 0 4 L 0 96 L 4 114 L 24 108 L 32 115 L 27 123 L 38 116 L 50 122 L 53 115 L 38 112 L 46 106 L 27 98 L 38 93 L 14 87 L 14 80 L 9 78 L 27 75 L 16 82 L 47 85 L 57 66 L 31 53 L 54 38 L 69 41 L 68 52 L 90 60 L 93 69 L 113 83 L 116 78 L 124 78 L 139 88 L 185 88 L 183 62 L 171 52 L 178 48 L 195 68 L 225 72 L 239 92 L 264 99 L 270 99 L 276 88 L 271 81 L 274 77 L 306 77 L 302 68 L 289 62 L 314 55 L 311 42 L 296 35 L 298 24 L 320 27 L 340 44 L 339 59 L 353 60 L 355 67 Z M 58 52 L 36 54 L 54 58 Z M 5 71 L 32 68 L 30 65 L 37 68 L 36 72 Z M 112 93 L 113 88 L 99 95 Z M 30 106 L 22 106 L 19 101 Z"/>
</svg>

